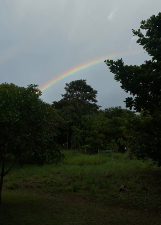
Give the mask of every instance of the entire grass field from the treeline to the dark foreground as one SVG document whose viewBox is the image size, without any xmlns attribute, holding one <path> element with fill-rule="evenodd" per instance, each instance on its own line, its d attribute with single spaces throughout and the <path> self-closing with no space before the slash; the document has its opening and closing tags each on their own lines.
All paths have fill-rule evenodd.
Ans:
<svg viewBox="0 0 161 225">
<path fill-rule="evenodd" d="M 64 154 L 58 165 L 16 165 L 5 177 L 0 224 L 161 224 L 155 164 L 119 153 L 113 161 L 104 152 Z"/>
</svg>

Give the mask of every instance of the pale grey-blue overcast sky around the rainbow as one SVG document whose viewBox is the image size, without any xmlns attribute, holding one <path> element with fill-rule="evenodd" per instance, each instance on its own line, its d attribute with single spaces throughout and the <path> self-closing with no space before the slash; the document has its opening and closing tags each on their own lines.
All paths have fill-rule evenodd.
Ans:
<svg viewBox="0 0 161 225">
<path fill-rule="evenodd" d="M 127 65 L 150 59 L 132 29 L 161 11 L 161 0 L 0 0 L 0 83 L 39 86 L 53 77 L 112 54 Z M 102 108 L 122 106 L 128 94 L 102 61 L 43 91 L 61 99 L 65 83 L 86 79 Z"/>
</svg>

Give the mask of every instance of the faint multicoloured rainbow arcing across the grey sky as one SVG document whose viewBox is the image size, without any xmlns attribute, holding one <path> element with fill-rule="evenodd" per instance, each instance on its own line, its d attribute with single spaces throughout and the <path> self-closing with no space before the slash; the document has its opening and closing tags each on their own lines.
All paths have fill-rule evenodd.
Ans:
<svg viewBox="0 0 161 225">
<path fill-rule="evenodd" d="M 59 74 L 58 76 L 53 77 L 52 79 L 50 79 L 49 81 L 47 81 L 46 83 L 42 84 L 39 89 L 43 92 L 46 89 L 50 88 L 52 85 L 56 84 L 57 82 L 63 80 L 66 77 L 71 76 L 72 74 L 75 74 L 81 70 L 84 70 L 90 66 L 96 65 L 100 62 L 103 62 L 105 59 L 113 59 L 116 57 L 121 57 L 121 56 L 125 56 L 125 55 L 135 55 L 135 54 L 140 54 L 143 53 L 143 51 L 137 51 L 137 52 L 122 52 L 120 54 L 116 53 L 116 54 L 111 54 L 111 55 L 106 55 L 103 56 L 99 59 L 95 59 L 95 60 L 91 60 L 88 62 L 85 62 L 83 64 L 79 64 L 75 67 L 70 68 L 69 70 L 64 71 L 63 73 Z"/>
</svg>

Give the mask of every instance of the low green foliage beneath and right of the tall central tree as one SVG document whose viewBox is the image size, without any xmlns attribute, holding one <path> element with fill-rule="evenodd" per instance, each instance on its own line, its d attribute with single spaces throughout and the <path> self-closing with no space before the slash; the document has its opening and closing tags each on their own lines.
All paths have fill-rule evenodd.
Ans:
<svg viewBox="0 0 161 225">
<path fill-rule="evenodd" d="M 122 127 L 127 120 L 135 117 L 135 113 L 121 107 L 111 107 L 99 110 L 97 113 L 82 115 L 79 123 L 73 123 L 68 107 L 64 112 L 69 112 L 66 118 L 67 137 L 70 136 L 71 146 L 74 149 L 84 149 L 87 153 L 97 153 L 114 139 L 119 146 L 119 152 L 125 152 L 125 144 L 118 142 L 124 140 Z M 65 117 L 64 117 L 65 118 Z M 65 119 L 64 119 L 65 120 Z M 61 140 L 62 141 L 62 140 Z M 65 139 L 66 141 L 66 139 Z"/>
</svg>

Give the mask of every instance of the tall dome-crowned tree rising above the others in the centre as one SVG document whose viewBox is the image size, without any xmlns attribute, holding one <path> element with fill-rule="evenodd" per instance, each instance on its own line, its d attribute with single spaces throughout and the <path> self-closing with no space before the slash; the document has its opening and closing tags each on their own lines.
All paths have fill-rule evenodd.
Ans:
<svg viewBox="0 0 161 225">
<path fill-rule="evenodd" d="M 67 143 L 68 148 L 69 143 L 71 141 L 73 143 L 75 139 L 73 134 L 75 129 L 73 130 L 72 127 L 81 130 L 82 116 L 98 112 L 99 106 L 96 104 L 97 91 L 87 85 L 86 80 L 72 81 L 66 84 L 65 90 L 66 93 L 62 94 L 63 98 L 58 102 L 54 101 L 52 107 L 60 112 L 66 122 L 66 135 L 62 138 L 61 144 Z"/>
</svg>

